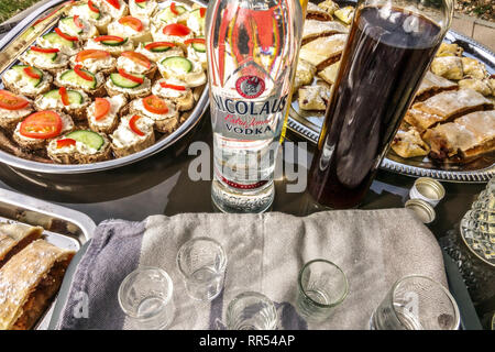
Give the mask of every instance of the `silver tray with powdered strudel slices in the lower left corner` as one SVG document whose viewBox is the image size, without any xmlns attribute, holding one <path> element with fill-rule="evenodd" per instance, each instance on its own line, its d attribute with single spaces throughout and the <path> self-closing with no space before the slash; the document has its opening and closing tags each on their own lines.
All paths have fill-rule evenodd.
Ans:
<svg viewBox="0 0 495 352">
<path fill-rule="evenodd" d="M 0 330 L 47 329 L 72 258 L 95 222 L 0 189 Z"/>
</svg>

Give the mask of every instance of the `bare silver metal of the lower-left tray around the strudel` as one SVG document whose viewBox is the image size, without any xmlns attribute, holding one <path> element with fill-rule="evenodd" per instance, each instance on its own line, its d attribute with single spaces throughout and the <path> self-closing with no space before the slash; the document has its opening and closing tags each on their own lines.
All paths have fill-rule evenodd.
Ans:
<svg viewBox="0 0 495 352">
<path fill-rule="evenodd" d="M 36 198 L 0 188 L 0 222 L 44 228 L 44 239 L 63 249 L 79 251 L 94 234 L 95 222 L 86 215 Z M 56 299 L 35 324 L 46 330 Z"/>
</svg>

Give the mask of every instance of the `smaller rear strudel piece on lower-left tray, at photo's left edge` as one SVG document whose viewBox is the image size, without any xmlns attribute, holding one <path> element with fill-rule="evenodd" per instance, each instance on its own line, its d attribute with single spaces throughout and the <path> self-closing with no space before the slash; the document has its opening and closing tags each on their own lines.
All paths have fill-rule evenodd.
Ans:
<svg viewBox="0 0 495 352">
<path fill-rule="evenodd" d="M 28 244 L 38 240 L 42 234 L 43 228 L 41 227 L 29 227 L 22 223 L 1 223 L 0 268 Z"/>
</svg>

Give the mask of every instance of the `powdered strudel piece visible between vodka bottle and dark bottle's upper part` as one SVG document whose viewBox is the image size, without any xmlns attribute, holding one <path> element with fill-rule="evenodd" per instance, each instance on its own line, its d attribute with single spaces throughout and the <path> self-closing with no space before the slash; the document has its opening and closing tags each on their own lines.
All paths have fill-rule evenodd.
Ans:
<svg viewBox="0 0 495 352">
<path fill-rule="evenodd" d="M 321 70 L 340 59 L 346 41 L 346 34 L 319 37 L 302 45 L 299 57 L 316 66 L 318 70 Z"/>
</svg>

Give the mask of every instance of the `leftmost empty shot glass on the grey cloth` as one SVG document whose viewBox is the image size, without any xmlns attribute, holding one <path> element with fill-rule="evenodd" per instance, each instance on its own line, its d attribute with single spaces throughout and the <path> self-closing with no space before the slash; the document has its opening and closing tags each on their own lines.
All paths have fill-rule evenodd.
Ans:
<svg viewBox="0 0 495 352">
<path fill-rule="evenodd" d="M 174 319 L 173 283 L 158 267 L 140 267 L 129 274 L 118 297 L 135 329 L 163 330 Z"/>
</svg>

